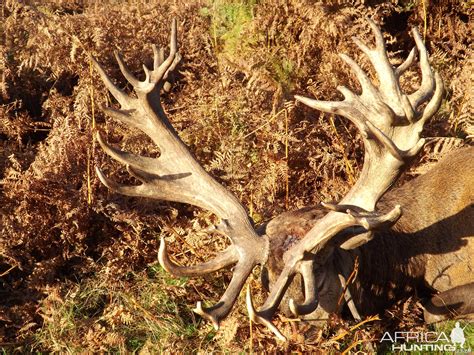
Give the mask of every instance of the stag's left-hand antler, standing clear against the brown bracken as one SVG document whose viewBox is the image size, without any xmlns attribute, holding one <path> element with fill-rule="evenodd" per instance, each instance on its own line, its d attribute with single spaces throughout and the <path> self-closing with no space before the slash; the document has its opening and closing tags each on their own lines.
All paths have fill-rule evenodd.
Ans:
<svg viewBox="0 0 474 355">
<path fill-rule="evenodd" d="M 146 133 L 160 148 L 158 158 L 147 158 L 121 151 L 107 144 L 97 134 L 97 140 L 112 158 L 126 165 L 128 172 L 141 184 L 123 186 L 105 177 L 100 169 L 97 175 L 110 190 L 129 196 L 150 197 L 159 200 L 192 204 L 208 209 L 221 218 L 220 229 L 230 238 L 232 245 L 215 259 L 201 265 L 180 267 L 168 257 L 164 239 L 159 249 L 159 262 L 174 275 L 202 275 L 232 264 L 232 280 L 219 302 L 203 308 L 198 302 L 196 313 L 210 320 L 218 329 L 221 319 L 227 316 L 246 279 L 257 264 L 265 263 L 268 241 L 259 237 L 245 208 L 222 185 L 204 171 L 171 126 L 161 106 L 160 91 L 169 74 L 180 61 L 176 39 L 176 21 L 171 28 L 170 53 L 153 46 L 153 70 L 143 66 L 145 80 L 138 80 L 127 68 L 121 55 L 115 53 L 120 70 L 133 86 L 137 98 L 125 94 L 112 83 L 104 69 L 93 58 L 93 63 L 104 84 L 119 102 L 121 109 L 104 108 L 111 117 Z"/>
</svg>

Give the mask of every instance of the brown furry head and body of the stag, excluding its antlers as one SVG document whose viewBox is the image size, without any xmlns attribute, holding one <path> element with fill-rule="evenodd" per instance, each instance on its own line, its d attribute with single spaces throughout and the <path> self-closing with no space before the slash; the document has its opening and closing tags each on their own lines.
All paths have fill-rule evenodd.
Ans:
<svg viewBox="0 0 474 355">
<path fill-rule="evenodd" d="M 377 208 L 387 211 L 400 204 L 402 217 L 391 229 L 376 232 L 373 240 L 355 250 L 329 248 L 333 252 L 315 269 L 319 305 L 310 316 L 324 317 L 339 310 L 342 288 L 337 274 L 347 278 L 356 257 L 358 274 L 350 292 L 361 315 L 383 311 L 415 293 L 421 297 L 440 293 L 438 299 L 456 300 L 456 307 L 444 308 L 448 316 L 450 312 L 472 312 L 473 182 L 474 147 L 469 147 L 449 154 L 426 174 L 388 192 Z M 267 225 L 272 248 L 267 264 L 270 287 L 283 267 L 288 245 L 304 236 L 325 213 L 321 207 L 306 208 L 284 213 Z M 287 311 L 289 298 L 304 299 L 298 277 L 282 302 L 283 311 Z M 427 318 L 430 309 L 435 309 L 438 316 L 430 319 L 440 319 L 442 308 L 433 298 L 427 304 Z"/>
</svg>

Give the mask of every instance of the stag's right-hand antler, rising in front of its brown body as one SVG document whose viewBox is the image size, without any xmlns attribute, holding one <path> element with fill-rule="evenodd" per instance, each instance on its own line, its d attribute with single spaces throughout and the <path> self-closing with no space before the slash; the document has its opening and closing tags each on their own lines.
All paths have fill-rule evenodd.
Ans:
<svg viewBox="0 0 474 355">
<path fill-rule="evenodd" d="M 344 95 L 343 101 L 318 101 L 295 96 L 296 100 L 312 108 L 344 116 L 354 123 L 362 135 L 365 156 L 360 177 L 347 195 L 337 205 L 326 204 L 331 211 L 287 252 L 289 257 L 285 267 L 260 311 L 255 311 L 248 294 L 247 306 L 251 318 L 269 327 L 280 339 L 284 337 L 271 324 L 271 318 L 294 274 L 301 273 L 305 284 L 312 285 L 308 273 L 302 272 L 301 265 L 308 259 L 321 257 L 325 249 L 324 255 L 327 255 L 327 248 L 332 247 L 328 242 L 341 232 L 346 232 L 343 234 L 348 234 L 349 238 L 356 235 L 343 243 L 344 246 L 357 247 L 360 241 L 353 240 L 358 235 L 364 235 L 367 241 L 371 230 L 387 227 L 400 217 L 400 206 L 395 206 L 384 215 L 373 211 L 377 201 L 396 181 L 407 161 L 422 148 L 424 139 L 420 138 L 420 133 L 423 125 L 441 104 L 443 83 L 440 75 L 430 67 L 428 53 L 418 30 L 413 29 L 413 36 L 420 53 L 422 82 L 416 92 L 407 95 L 400 89 L 399 78 L 414 62 L 416 50 L 411 51 L 403 64 L 393 68 L 380 29 L 373 21 L 368 22 L 375 34 L 375 48 L 369 48 L 357 38 L 354 38 L 354 42 L 371 61 L 380 85 L 376 87 L 354 60 L 341 54 L 341 59 L 354 71 L 360 82 L 360 95 L 339 86 L 337 89 Z M 427 104 L 420 108 L 423 103 Z M 291 302 L 291 309 L 301 312 L 308 308 L 307 305 L 314 304 L 316 289 L 305 289 L 307 300 L 303 305 Z"/>
</svg>

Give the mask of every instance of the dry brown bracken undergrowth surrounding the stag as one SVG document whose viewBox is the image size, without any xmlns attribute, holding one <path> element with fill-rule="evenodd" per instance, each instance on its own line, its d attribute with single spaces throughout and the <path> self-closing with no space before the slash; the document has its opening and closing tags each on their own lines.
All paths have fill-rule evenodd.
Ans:
<svg viewBox="0 0 474 355">
<path fill-rule="evenodd" d="M 157 148 L 142 133 L 105 118 L 110 97 L 92 71 L 95 55 L 125 85 L 120 49 L 140 73 L 152 43 L 166 46 L 178 19 L 184 58 L 168 114 L 199 161 L 262 223 L 286 209 L 338 200 L 361 167 L 355 129 L 294 104 L 295 93 L 338 99 L 356 86 L 337 52 L 369 66 L 350 37 L 382 24 L 394 60 L 422 29 L 446 100 L 429 123 L 423 162 L 469 144 L 472 117 L 471 10 L 462 1 L 6 1 L 0 4 L 0 347 L 6 351 L 371 351 L 384 329 L 424 327 L 416 300 L 354 326 L 279 318 L 277 343 L 249 324 L 240 299 L 216 333 L 191 312 L 218 299 L 229 272 L 173 279 L 156 265 L 160 236 L 177 262 L 196 263 L 225 247 L 209 235 L 214 216 L 178 204 L 109 193 L 93 167 L 129 177 L 93 140 L 141 154 Z M 369 37 L 370 38 L 370 37 Z M 471 59 L 471 61 L 470 61 Z M 416 71 L 404 81 L 416 84 Z M 414 84 L 415 83 L 415 84 Z M 128 89 L 128 88 L 127 88 Z M 441 137 L 441 138 L 440 138 Z M 423 166 L 411 175 L 423 171 Z M 258 297 L 258 270 L 250 278 Z M 260 294 L 258 294 L 260 292 Z M 411 311 L 408 311 L 410 309 Z M 373 345 L 372 345 L 373 344 Z"/>
</svg>

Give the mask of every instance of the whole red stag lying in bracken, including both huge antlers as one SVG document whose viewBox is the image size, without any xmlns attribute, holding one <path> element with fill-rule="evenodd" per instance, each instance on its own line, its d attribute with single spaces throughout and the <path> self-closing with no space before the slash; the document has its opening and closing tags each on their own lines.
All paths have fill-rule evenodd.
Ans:
<svg viewBox="0 0 474 355">
<path fill-rule="evenodd" d="M 431 68 L 421 36 L 414 29 L 422 80 L 417 91 L 404 93 L 399 78 L 414 63 L 417 50 L 414 48 L 401 65 L 393 67 L 379 28 L 368 22 L 375 47 L 354 41 L 382 84 L 373 84 L 354 60 L 341 54 L 361 85 L 360 94 L 340 86 L 343 101 L 296 96 L 297 101 L 314 109 L 348 118 L 360 131 L 365 156 L 358 181 L 339 203 L 284 213 L 260 234 L 242 204 L 194 159 L 161 106 L 161 89 L 168 85 L 169 75 L 180 60 L 176 22 L 172 24 L 168 57 L 153 47 L 153 69 L 144 66 L 144 81 L 135 78 L 116 53 L 136 98 L 114 85 L 94 60 L 121 106 L 105 108 L 105 112 L 142 130 L 161 153 L 158 158 L 137 156 L 110 146 L 98 134 L 104 151 L 141 182 L 137 186 L 120 185 L 97 169 L 102 183 L 129 196 L 192 204 L 221 219 L 217 228 L 229 237 L 231 246 L 213 260 L 177 266 L 169 259 L 164 240 L 159 250 L 160 264 L 178 276 L 199 276 L 235 265 L 221 299 L 209 308 L 198 302 L 194 310 L 216 328 L 258 264 L 266 265 L 264 279 L 270 292 L 257 311 L 247 290 L 249 315 L 280 339 L 284 336 L 271 322 L 279 307 L 298 316 L 324 317 L 338 310 L 342 293 L 355 318 L 381 311 L 414 292 L 427 298 L 427 320 L 474 312 L 470 303 L 474 290 L 474 262 L 470 258 L 474 252 L 474 149 L 459 150 L 425 175 L 388 191 L 423 147 L 420 133 L 441 104 L 443 82 Z M 346 285 L 355 260 L 358 275 Z M 285 302 L 280 306 L 282 300 Z"/>
</svg>

